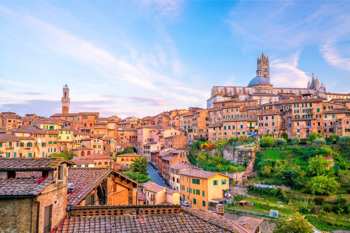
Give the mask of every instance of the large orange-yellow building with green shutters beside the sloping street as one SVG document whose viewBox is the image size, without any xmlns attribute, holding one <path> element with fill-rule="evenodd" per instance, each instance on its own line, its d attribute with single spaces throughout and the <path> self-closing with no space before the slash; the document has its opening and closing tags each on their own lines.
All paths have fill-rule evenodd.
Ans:
<svg viewBox="0 0 350 233">
<path fill-rule="evenodd" d="M 217 203 L 228 193 L 229 177 L 216 172 L 188 169 L 180 173 L 181 200 L 191 208 L 208 210 L 209 202 Z"/>
</svg>

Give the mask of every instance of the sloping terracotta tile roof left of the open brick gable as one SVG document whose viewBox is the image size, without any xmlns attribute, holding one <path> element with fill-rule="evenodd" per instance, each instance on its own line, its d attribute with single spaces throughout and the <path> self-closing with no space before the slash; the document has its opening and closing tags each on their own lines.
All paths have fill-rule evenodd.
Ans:
<svg viewBox="0 0 350 233">
<path fill-rule="evenodd" d="M 75 192 L 67 194 L 67 205 L 79 204 L 111 172 L 109 168 L 70 168 L 68 183 L 72 183 Z"/>
</svg>

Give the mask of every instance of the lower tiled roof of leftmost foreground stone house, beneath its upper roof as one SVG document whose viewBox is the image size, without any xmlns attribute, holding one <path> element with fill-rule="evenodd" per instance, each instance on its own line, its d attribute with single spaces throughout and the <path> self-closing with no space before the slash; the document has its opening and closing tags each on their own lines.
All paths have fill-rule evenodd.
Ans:
<svg viewBox="0 0 350 233">
<path fill-rule="evenodd" d="M 35 183 L 40 178 L 0 178 L 0 196 L 37 196 L 52 182 L 45 179 Z"/>
</svg>

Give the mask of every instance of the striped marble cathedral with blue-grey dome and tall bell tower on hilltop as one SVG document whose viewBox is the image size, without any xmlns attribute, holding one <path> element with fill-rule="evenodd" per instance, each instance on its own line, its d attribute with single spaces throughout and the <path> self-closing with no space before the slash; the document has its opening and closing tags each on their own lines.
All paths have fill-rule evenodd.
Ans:
<svg viewBox="0 0 350 233">
<path fill-rule="evenodd" d="M 211 89 L 210 99 L 207 100 L 207 108 L 212 108 L 213 104 L 224 100 L 258 100 L 258 104 L 275 102 L 282 100 L 283 96 L 302 97 L 303 95 L 313 95 L 325 93 L 326 88 L 314 77 L 307 84 L 307 88 L 281 88 L 274 87 L 270 82 L 269 57 L 265 57 L 264 52 L 257 58 L 257 71 L 246 87 L 234 86 L 214 86 Z"/>
</svg>

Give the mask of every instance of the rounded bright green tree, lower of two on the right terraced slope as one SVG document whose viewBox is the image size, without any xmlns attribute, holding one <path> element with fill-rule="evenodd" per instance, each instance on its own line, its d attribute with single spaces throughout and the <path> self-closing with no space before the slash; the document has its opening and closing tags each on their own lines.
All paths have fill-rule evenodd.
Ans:
<svg viewBox="0 0 350 233">
<path fill-rule="evenodd" d="M 335 177 L 321 175 L 311 178 L 309 187 L 313 195 L 333 195 L 337 192 L 340 185 L 335 181 Z"/>
</svg>

